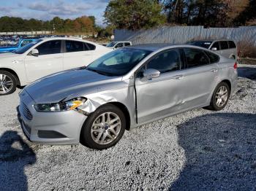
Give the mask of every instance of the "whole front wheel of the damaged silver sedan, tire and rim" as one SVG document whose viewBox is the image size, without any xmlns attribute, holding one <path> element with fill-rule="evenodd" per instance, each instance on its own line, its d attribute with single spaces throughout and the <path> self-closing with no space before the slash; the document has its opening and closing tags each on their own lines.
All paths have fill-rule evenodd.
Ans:
<svg viewBox="0 0 256 191">
<path fill-rule="evenodd" d="M 105 104 L 89 114 L 80 133 L 80 143 L 91 149 L 108 149 L 121 139 L 125 129 L 126 119 L 121 109 Z"/>
</svg>

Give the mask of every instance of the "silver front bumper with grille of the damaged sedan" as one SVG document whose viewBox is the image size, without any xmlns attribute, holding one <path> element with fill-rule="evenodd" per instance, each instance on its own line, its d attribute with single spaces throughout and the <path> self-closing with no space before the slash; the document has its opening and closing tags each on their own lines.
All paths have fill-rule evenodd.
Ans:
<svg viewBox="0 0 256 191">
<path fill-rule="evenodd" d="M 43 144 L 78 144 L 86 116 L 76 111 L 37 112 L 34 100 L 20 93 L 20 124 L 30 141 Z M 26 112 L 24 112 L 24 106 Z M 29 112 L 29 114 L 28 114 Z"/>
</svg>

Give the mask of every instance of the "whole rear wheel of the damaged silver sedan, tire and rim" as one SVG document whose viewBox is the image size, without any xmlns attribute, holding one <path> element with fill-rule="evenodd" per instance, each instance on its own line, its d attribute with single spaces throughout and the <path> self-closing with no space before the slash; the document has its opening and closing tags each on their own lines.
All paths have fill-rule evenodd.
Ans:
<svg viewBox="0 0 256 191">
<path fill-rule="evenodd" d="M 222 88 L 222 89 L 221 89 Z M 228 99 L 230 98 L 230 87 L 226 82 L 220 82 L 214 90 L 211 97 L 210 106 L 206 107 L 214 111 L 219 111 L 227 105 Z"/>
</svg>

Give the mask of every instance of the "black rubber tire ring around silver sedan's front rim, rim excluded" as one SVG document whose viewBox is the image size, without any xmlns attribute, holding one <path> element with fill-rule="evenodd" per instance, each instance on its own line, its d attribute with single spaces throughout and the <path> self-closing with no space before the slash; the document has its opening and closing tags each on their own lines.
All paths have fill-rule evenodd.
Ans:
<svg viewBox="0 0 256 191">
<path fill-rule="evenodd" d="M 113 112 L 118 115 L 121 120 L 121 130 L 116 139 L 110 144 L 97 144 L 91 137 L 91 126 L 94 120 L 96 120 L 100 114 L 105 112 Z M 83 128 L 80 133 L 80 142 L 81 144 L 91 149 L 108 149 L 109 147 L 113 147 L 121 139 L 121 137 L 124 135 L 125 129 L 126 118 L 121 109 L 119 109 L 117 106 L 114 106 L 113 104 L 105 104 L 104 106 L 100 106 L 95 112 L 89 114 L 86 122 L 83 124 Z"/>
</svg>

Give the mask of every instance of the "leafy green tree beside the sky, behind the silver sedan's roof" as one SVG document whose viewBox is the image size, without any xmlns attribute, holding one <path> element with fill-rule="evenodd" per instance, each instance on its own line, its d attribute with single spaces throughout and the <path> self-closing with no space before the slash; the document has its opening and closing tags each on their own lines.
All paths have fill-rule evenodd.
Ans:
<svg viewBox="0 0 256 191">
<path fill-rule="evenodd" d="M 165 23 L 162 5 L 155 0 L 112 0 L 105 9 L 105 23 L 136 30 Z"/>
</svg>

